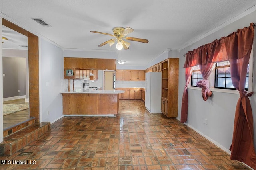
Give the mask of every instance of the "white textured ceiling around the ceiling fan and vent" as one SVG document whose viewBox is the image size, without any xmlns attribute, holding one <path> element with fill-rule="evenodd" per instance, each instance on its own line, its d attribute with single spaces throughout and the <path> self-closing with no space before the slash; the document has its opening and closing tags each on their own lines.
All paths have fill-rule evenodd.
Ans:
<svg viewBox="0 0 256 170">
<path fill-rule="evenodd" d="M 149 43 L 129 41 L 130 49 L 118 51 L 117 59 L 143 66 L 166 49 L 184 48 L 255 5 L 255 0 L 0 0 L 0 12 L 64 49 L 118 51 L 115 45 L 98 47 L 112 37 L 90 31 L 112 34 L 114 27 L 131 27 L 134 32 L 128 36 Z M 42 18 L 51 27 L 31 18 Z"/>
</svg>

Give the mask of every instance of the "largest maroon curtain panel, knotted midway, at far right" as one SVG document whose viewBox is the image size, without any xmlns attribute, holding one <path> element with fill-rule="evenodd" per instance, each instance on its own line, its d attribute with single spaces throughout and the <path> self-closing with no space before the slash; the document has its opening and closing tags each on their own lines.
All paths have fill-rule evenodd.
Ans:
<svg viewBox="0 0 256 170">
<path fill-rule="evenodd" d="M 239 160 L 256 169 L 252 108 L 248 98 L 253 92 L 246 94 L 244 90 L 253 39 L 254 28 L 251 23 L 250 27 L 237 30 L 221 39 L 221 42 L 225 44 L 224 48 L 230 58 L 232 84 L 240 94 L 236 105 L 233 140 L 230 146 L 231 159 Z"/>
</svg>

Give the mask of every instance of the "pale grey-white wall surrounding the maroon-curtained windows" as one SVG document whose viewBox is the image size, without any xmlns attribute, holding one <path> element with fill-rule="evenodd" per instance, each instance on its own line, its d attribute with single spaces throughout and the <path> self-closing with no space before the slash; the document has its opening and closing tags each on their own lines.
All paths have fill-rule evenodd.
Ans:
<svg viewBox="0 0 256 170">
<path fill-rule="evenodd" d="M 198 42 L 193 43 L 189 47 L 180 51 L 180 69 L 179 69 L 179 106 L 178 106 L 178 119 L 180 119 L 182 94 L 185 86 L 185 69 L 183 68 L 185 57 L 183 54 L 190 50 L 196 49 L 201 45 L 210 43 L 215 39 L 220 39 L 223 36 L 227 36 L 237 29 L 248 27 L 250 23 L 256 23 L 256 11 L 236 20 L 229 25 L 226 25 L 222 29 L 215 31 L 214 33 L 204 37 Z M 256 49 L 254 46 L 254 57 Z M 256 75 L 256 63 L 254 63 L 254 75 Z M 254 82 L 256 78 L 254 76 Z M 254 83 L 255 84 L 255 83 Z M 256 90 L 255 85 L 253 90 Z M 222 149 L 229 152 L 230 144 L 232 143 L 233 127 L 234 127 L 234 115 L 236 103 L 239 98 L 239 94 L 231 94 L 224 92 L 213 92 L 213 96 L 206 102 L 202 99 L 201 89 L 188 89 L 188 121 L 189 126 L 194 127 L 196 131 L 206 135 L 206 137 L 215 141 Z M 254 94 L 250 98 L 252 104 L 252 112 L 254 116 L 254 139 L 256 139 L 256 95 Z M 208 123 L 205 125 L 203 119 L 207 119 Z M 256 146 L 256 141 L 254 141 Z"/>
</svg>

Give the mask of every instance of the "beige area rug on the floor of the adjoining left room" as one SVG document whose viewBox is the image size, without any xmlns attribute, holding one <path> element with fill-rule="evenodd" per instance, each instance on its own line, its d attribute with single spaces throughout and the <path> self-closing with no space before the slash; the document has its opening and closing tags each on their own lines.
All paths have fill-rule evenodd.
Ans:
<svg viewBox="0 0 256 170">
<path fill-rule="evenodd" d="M 28 109 L 28 104 L 3 104 L 4 116 Z"/>
</svg>

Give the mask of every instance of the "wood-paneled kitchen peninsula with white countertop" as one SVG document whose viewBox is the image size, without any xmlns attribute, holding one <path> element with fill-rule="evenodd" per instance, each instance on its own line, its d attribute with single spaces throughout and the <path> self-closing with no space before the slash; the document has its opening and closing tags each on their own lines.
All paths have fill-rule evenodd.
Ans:
<svg viewBox="0 0 256 170">
<path fill-rule="evenodd" d="M 117 115 L 123 90 L 78 89 L 61 92 L 63 115 Z"/>
</svg>

